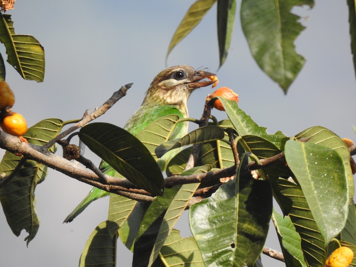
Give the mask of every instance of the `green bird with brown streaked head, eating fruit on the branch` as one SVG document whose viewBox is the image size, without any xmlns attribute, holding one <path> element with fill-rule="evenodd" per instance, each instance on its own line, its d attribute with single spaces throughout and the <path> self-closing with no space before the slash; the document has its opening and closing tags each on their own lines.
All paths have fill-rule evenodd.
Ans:
<svg viewBox="0 0 356 267">
<path fill-rule="evenodd" d="M 162 70 L 153 79 L 146 91 L 145 98 L 138 110 L 127 121 L 124 129 L 136 136 L 151 122 L 166 115 L 177 114 L 179 118 L 188 117 L 187 101 L 190 94 L 197 88 L 215 83 L 215 80 L 204 80 L 216 76 L 205 70 L 195 70 L 182 65 Z M 170 139 L 181 138 L 188 132 L 188 122 L 179 123 L 174 128 Z M 171 153 L 171 158 L 174 154 Z M 158 159 L 158 165 L 164 171 L 170 158 Z M 115 176 L 115 170 L 105 161 L 101 161 L 99 169 L 110 176 Z M 70 213 L 63 223 L 73 221 L 94 200 L 109 195 L 108 192 L 93 187 L 87 197 Z"/>
</svg>

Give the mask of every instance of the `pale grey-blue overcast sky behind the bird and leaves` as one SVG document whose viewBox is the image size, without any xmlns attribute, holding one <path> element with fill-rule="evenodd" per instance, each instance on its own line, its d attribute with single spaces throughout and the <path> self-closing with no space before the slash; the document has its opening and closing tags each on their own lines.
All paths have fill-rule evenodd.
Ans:
<svg viewBox="0 0 356 267">
<path fill-rule="evenodd" d="M 30 34 L 45 48 L 46 73 L 43 83 L 26 81 L 6 63 L 6 81 L 16 96 L 13 111 L 22 114 L 29 126 L 50 117 L 77 119 L 86 109 L 104 103 L 121 85 L 133 82 L 127 96 L 96 120 L 124 126 L 141 105 L 152 79 L 166 68 L 169 42 L 193 2 L 16 1 L 15 10 L 7 13 L 12 14 L 17 34 Z M 238 1 L 238 10 L 239 5 Z M 356 88 L 346 1 L 317 1 L 312 10 L 293 11 L 303 15 L 301 21 L 307 26 L 295 42 L 307 62 L 287 95 L 252 59 L 239 17 L 226 63 L 216 72 L 216 5 L 173 49 L 167 64 L 216 72 L 219 87 L 238 93 L 240 108 L 269 133 L 281 130 L 293 136 L 321 125 L 341 138 L 356 140 L 351 128 L 356 125 L 352 104 Z M 2 45 L 0 52 L 5 58 Z M 206 87 L 192 94 L 190 117 L 200 118 L 204 99 L 212 91 Z M 227 118 L 218 110 L 213 115 Z M 0 156 L 3 153 L 0 150 Z M 88 150 L 85 155 L 99 164 Z M 27 233 L 16 237 L 0 213 L 1 266 L 77 266 L 85 241 L 108 213 L 109 198 L 105 198 L 91 204 L 72 223 L 62 224 L 89 190 L 89 185 L 49 170 L 45 182 L 36 188 L 41 225 L 28 248 L 23 241 Z M 187 214 L 181 219 L 177 228 L 187 236 Z M 274 227 L 266 246 L 280 251 Z M 131 252 L 119 246 L 118 266 L 131 266 L 131 257 Z M 266 256 L 262 261 L 265 266 L 283 266 Z"/>
</svg>

